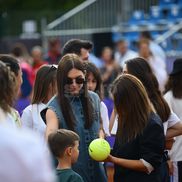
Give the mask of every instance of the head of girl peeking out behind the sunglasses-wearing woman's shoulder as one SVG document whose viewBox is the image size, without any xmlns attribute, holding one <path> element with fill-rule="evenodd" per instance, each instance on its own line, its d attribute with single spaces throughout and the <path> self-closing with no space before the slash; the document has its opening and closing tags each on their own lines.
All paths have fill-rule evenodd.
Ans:
<svg viewBox="0 0 182 182">
<path fill-rule="evenodd" d="M 96 92 L 101 97 L 102 79 L 99 69 L 91 62 L 85 64 L 87 70 L 86 77 L 88 90 Z"/>
</svg>

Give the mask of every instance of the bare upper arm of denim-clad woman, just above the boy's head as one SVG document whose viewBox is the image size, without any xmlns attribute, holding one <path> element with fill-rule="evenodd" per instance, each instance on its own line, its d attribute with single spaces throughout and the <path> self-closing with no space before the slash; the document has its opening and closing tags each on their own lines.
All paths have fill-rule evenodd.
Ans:
<svg viewBox="0 0 182 182">
<path fill-rule="evenodd" d="M 48 139 L 48 136 L 53 131 L 57 130 L 59 128 L 59 121 L 56 117 L 56 114 L 51 109 L 48 109 L 46 112 L 46 139 Z"/>
</svg>

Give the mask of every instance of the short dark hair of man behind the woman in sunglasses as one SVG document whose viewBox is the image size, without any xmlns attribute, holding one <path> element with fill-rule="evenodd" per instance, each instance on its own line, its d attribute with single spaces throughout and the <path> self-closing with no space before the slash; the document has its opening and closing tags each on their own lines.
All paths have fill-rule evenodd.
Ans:
<svg viewBox="0 0 182 182">
<path fill-rule="evenodd" d="M 81 48 L 91 50 L 93 47 L 92 42 L 88 40 L 81 40 L 81 39 L 71 39 L 68 42 L 65 43 L 62 54 L 63 56 L 68 53 L 75 53 L 77 55 L 80 55 Z"/>
</svg>

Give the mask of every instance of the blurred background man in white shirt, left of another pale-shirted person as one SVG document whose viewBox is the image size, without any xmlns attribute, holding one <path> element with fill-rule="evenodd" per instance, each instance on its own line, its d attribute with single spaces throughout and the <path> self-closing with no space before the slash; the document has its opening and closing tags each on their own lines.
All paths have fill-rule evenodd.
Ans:
<svg viewBox="0 0 182 182">
<path fill-rule="evenodd" d="M 122 39 L 116 43 L 117 51 L 114 54 L 114 59 L 123 68 L 125 62 L 129 59 L 138 56 L 138 53 L 128 48 L 126 40 Z"/>
</svg>

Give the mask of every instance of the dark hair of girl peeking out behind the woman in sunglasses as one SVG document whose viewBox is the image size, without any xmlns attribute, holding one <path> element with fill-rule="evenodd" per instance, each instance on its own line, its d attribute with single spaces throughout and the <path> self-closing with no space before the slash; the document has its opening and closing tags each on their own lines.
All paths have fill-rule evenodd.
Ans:
<svg viewBox="0 0 182 182">
<path fill-rule="evenodd" d="M 101 78 L 101 73 L 99 71 L 99 69 L 95 66 L 95 64 L 91 63 L 91 62 L 84 62 L 85 67 L 86 67 L 86 79 L 88 79 L 88 76 L 90 73 L 93 74 L 95 80 L 97 81 L 97 85 L 96 88 L 94 90 L 94 92 L 96 92 L 100 99 L 103 99 L 103 88 L 102 88 L 102 78 Z"/>
</svg>

